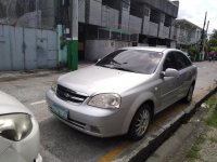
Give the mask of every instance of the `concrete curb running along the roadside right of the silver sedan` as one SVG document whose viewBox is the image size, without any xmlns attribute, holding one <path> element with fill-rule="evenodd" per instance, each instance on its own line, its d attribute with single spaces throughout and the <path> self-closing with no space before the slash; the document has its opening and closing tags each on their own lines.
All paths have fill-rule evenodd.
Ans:
<svg viewBox="0 0 217 162">
<path fill-rule="evenodd" d="M 209 96 L 217 91 L 217 86 L 210 90 L 205 96 L 191 104 L 181 113 L 179 113 L 170 123 L 155 133 L 155 137 L 148 137 L 145 141 L 139 141 L 131 148 L 126 149 L 120 156 L 118 156 L 113 162 L 129 161 L 129 162 L 144 162 L 166 140 L 168 139 L 179 126 L 187 122 L 196 112 L 196 109 L 204 103 Z"/>
</svg>

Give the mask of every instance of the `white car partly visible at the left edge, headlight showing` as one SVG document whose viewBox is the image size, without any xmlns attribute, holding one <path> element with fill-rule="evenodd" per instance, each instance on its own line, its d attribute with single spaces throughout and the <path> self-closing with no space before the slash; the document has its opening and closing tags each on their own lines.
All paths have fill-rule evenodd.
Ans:
<svg viewBox="0 0 217 162">
<path fill-rule="evenodd" d="M 0 162 L 42 162 L 39 125 L 33 113 L 0 91 Z"/>
</svg>

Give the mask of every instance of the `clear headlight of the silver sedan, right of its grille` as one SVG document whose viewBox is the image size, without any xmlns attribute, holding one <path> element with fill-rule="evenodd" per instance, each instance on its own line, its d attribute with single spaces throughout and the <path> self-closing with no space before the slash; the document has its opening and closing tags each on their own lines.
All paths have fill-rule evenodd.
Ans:
<svg viewBox="0 0 217 162">
<path fill-rule="evenodd" d="M 120 96 L 118 94 L 98 94 L 89 100 L 88 105 L 117 109 L 120 106 Z"/>
</svg>

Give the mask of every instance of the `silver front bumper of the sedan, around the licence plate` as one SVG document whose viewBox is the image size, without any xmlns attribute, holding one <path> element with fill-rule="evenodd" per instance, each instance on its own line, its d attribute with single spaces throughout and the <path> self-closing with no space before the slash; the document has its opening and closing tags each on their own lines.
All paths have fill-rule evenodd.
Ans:
<svg viewBox="0 0 217 162">
<path fill-rule="evenodd" d="M 84 104 L 76 105 L 59 98 L 51 90 L 47 92 L 47 103 L 50 111 L 67 125 L 81 131 L 84 133 L 99 136 L 110 137 L 127 133 L 123 127 L 126 111 L 119 109 L 102 109 Z M 68 110 L 68 118 L 63 119 L 51 110 L 53 105 Z"/>
</svg>

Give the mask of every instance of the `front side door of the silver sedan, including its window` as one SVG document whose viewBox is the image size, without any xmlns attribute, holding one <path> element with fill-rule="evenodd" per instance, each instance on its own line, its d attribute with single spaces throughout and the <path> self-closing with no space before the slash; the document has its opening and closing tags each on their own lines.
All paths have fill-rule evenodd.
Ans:
<svg viewBox="0 0 217 162">
<path fill-rule="evenodd" d="M 177 69 L 175 52 L 169 52 L 163 64 L 163 71 L 167 68 Z M 177 89 L 179 77 L 164 77 L 161 84 L 161 110 L 178 100 Z"/>
</svg>

